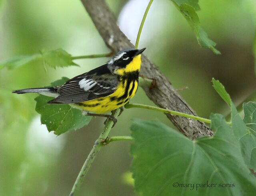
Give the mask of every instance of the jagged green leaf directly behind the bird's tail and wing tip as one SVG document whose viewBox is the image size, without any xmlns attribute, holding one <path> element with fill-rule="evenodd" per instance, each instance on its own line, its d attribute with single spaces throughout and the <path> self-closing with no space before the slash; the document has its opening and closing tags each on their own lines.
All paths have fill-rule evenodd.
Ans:
<svg viewBox="0 0 256 196">
<path fill-rule="evenodd" d="M 52 83 L 52 86 L 62 85 L 68 80 L 66 77 Z M 48 131 L 60 135 L 67 131 L 77 130 L 88 125 L 92 117 L 82 115 L 81 111 L 68 104 L 47 104 L 52 97 L 39 95 L 35 98 L 36 111 L 41 115 L 41 123 Z"/>
</svg>

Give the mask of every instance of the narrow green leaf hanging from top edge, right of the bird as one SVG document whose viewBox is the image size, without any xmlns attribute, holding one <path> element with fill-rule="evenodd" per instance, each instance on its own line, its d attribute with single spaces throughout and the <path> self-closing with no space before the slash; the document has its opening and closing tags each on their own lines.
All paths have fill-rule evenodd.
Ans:
<svg viewBox="0 0 256 196">
<path fill-rule="evenodd" d="M 196 11 L 200 10 L 198 0 L 172 0 L 172 2 L 174 2 L 178 10 L 180 10 L 194 30 L 198 44 L 205 48 L 210 48 L 215 54 L 220 54 L 220 51 L 214 48 L 216 43 L 208 38 L 208 35 L 200 25 L 200 21 L 196 13 Z"/>
</svg>

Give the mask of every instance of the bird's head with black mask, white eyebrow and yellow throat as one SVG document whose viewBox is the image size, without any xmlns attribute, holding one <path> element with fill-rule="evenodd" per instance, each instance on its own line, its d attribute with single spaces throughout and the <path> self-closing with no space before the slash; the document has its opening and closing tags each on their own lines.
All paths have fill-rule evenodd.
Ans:
<svg viewBox="0 0 256 196">
<path fill-rule="evenodd" d="M 127 48 L 119 51 L 108 61 L 108 69 L 118 75 L 122 75 L 124 72 L 140 71 L 140 57 L 145 49 Z"/>
</svg>

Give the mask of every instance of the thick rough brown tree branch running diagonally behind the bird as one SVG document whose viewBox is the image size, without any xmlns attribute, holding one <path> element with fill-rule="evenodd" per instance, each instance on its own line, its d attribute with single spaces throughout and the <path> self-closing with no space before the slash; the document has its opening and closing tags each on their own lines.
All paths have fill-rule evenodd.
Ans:
<svg viewBox="0 0 256 196">
<path fill-rule="evenodd" d="M 130 40 L 122 33 L 116 24 L 114 14 L 108 8 L 104 0 L 81 0 L 90 15 L 95 27 L 103 38 L 104 42 L 113 52 L 124 48 L 134 48 Z M 140 73 L 155 81 L 154 86 L 142 88 L 146 95 L 159 107 L 190 115 L 196 113 L 180 97 L 168 79 L 158 70 L 145 55 L 142 55 L 142 67 Z M 202 122 L 187 119 L 185 117 L 166 114 L 172 123 L 190 139 L 212 136 L 212 131 Z"/>
</svg>

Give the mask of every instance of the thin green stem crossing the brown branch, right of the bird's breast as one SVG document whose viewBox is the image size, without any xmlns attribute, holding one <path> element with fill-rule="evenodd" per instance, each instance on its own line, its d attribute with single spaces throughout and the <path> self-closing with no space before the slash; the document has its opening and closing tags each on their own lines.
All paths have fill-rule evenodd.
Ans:
<svg viewBox="0 0 256 196">
<path fill-rule="evenodd" d="M 130 104 L 124 105 L 124 107 L 125 108 L 137 107 L 137 108 L 151 109 L 151 110 L 155 110 L 155 111 L 159 111 L 159 112 L 169 113 L 169 114 L 172 114 L 172 115 L 177 115 L 177 116 L 181 116 L 181 117 L 195 119 L 197 121 L 201 121 L 201 122 L 204 122 L 204 123 L 211 123 L 210 119 L 205 119 L 205 118 L 202 118 L 202 117 L 197 117 L 197 116 L 194 116 L 194 115 L 190 115 L 190 114 L 186 114 L 186 113 L 182 113 L 182 112 L 177 112 L 177 111 L 173 111 L 173 110 L 168 110 L 168 109 L 163 109 L 163 108 L 159 108 L 159 107 L 154 107 L 154 106 L 150 106 L 150 105 L 130 103 Z"/>
</svg>

